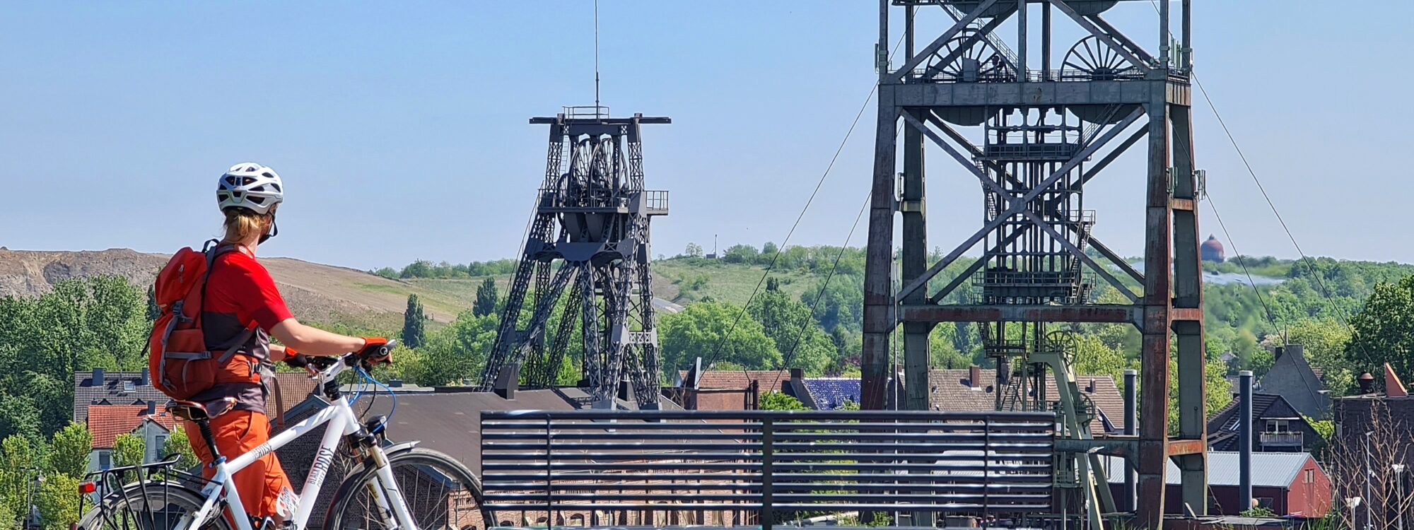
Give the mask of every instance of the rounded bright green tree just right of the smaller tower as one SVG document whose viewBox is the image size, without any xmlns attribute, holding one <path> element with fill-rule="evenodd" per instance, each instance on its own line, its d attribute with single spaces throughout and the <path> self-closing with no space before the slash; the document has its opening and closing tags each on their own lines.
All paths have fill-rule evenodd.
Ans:
<svg viewBox="0 0 1414 530">
<path fill-rule="evenodd" d="M 697 302 L 663 315 L 658 322 L 658 341 L 662 366 L 669 369 L 687 366 L 696 356 L 756 369 L 781 366 L 782 360 L 761 322 L 742 315 L 741 307 L 730 302 Z"/>
</svg>

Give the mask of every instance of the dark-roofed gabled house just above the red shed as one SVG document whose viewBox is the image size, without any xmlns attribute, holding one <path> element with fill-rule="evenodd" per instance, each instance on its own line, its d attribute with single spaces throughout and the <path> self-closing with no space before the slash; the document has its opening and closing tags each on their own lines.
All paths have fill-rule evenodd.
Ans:
<svg viewBox="0 0 1414 530">
<path fill-rule="evenodd" d="M 1209 449 L 1240 448 L 1240 408 L 1233 400 L 1208 420 Z M 1321 441 L 1321 434 L 1285 397 L 1267 393 L 1251 394 L 1251 449 L 1260 452 L 1309 452 Z"/>
</svg>

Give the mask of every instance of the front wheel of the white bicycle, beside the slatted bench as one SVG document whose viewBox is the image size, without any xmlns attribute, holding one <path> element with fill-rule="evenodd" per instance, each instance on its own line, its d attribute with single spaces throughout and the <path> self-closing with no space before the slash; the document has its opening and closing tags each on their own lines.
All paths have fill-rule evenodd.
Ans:
<svg viewBox="0 0 1414 530">
<path fill-rule="evenodd" d="M 407 448 L 389 454 L 387 465 L 393 468 L 393 478 L 419 529 L 486 527 L 482 522 L 481 481 L 455 458 L 433 449 Z M 362 466 L 344 479 L 324 517 L 324 530 L 385 527 L 379 517 L 369 517 L 373 502 L 368 486 L 375 483 L 376 472 Z"/>
</svg>

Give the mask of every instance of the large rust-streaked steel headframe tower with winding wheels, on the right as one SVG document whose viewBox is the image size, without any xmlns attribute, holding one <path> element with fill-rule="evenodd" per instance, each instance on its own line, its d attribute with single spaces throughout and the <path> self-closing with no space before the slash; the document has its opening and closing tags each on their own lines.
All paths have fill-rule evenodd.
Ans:
<svg viewBox="0 0 1414 530">
<path fill-rule="evenodd" d="M 889 64 L 891 4 L 901 7 L 895 16 L 902 14 L 906 42 L 896 68 Z M 998 363 L 998 391 L 1025 384 L 1035 373 L 1028 369 L 1051 369 L 1058 386 L 1062 383 L 1069 372 L 1065 359 L 1053 363 L 1046 358 L 1065 349 L 1063 336 L 1052 338 L 1058 324 L 1133 324 L 1143 334 L 1138 438 L 1075 440 L 1068 447 L 1079 454 L 1123 455 L 1137 466 L 1138 522 L 1158 527 L 1169 458 L 1182 475 L 1184 502 L 1195 513 L 1206 512 L 1203 300 L 1195 211 L 1202 174 L 1193 167 L 1189 88 L 1192 0 L 1181 3 L 1176 35 L 1169 31 L 1171 3 L 1155 6 L 1157 54 L 1104 20 L 1116 4 L 880 0 L 863 406 L 881 408 L 885 403 L 889 341 L 899 324 L 908 408 L 928 407 L 928 335 L 937 322 L 980 325 L 984 348 Z M 925 16 L 946 16 L 947 30 L 915 40 L 915 18 Z M 1052 49 L 1052 18 L 1073 23 L 1085 37 Z M 1004 24 L 1015 30 L 1014 37 L 997 34 Z M 1034 38 L 1038 30 L 1039 38 Z M 1036 42 L 1039 54 L 1028 51 Z M 1032 68 L 1036 59 L 1039 69 Z M 899 120 L 902 155 L 895 131 Z M 963 179 L 980 182 L 983 191 L 981 229 L 932 264 L 925 143 L 956 161 L 960 172 L 970 175 Z M 1148 147 L 1143 273 L 1094 237 L 1093 216 L 1083 202 L 1083 188 L 1134 146 Z M 892 277 L 895 213 L 902 216 L 898 284 Z M 939 274 L 978 243 L 980 259 L 952 278 Z M 1127 302 L 1096 304 L 1092 287 L 1097 280 L 1113 285 Z M 1176 335 L 1179 383 L 1174 440 L 1168 435 L 1171 334 Z M 1044 376 L 1034 380 L 1041 383 Z M 1083 404 L 1072 408 L 1070 421 L 1083 423 Z"/>
</svg>

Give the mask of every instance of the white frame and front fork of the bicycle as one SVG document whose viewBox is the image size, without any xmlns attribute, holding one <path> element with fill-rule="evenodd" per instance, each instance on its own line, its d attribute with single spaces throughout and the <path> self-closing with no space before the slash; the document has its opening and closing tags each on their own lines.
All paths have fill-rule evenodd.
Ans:
<svg viewBox="0 0 1414 530">
<path fill-rule="evenodd" d="M 332 382 L 334 376 L 342 370 L 344 363 L 341 362 L 339 365 L 321 372 L 317 377 L 321 382 Z M 235 457 L 229 461 L 225 457 L 218 458 L 215 464 L 216 473 L 212 476 L 212 482 L 201 490 L 202 497 L 206 499 L 205 503 L 202 503 L 201 509 L 197 510 L 189 520 L 178 524 L 177 530 L 187 530 L 189 523 L 205 522 L 212 516 L 219 516 L 212 512 L 216 510 L 216 505 L 222 499 L 222 492 L 225 492 L 223 497 L 232 513 L 230 519 L 235 522 L 236 530 L 252 530 L 250 517 L 246 516 L 240 496 L 236 493 L 232 475 L 240 472 L 260 457 L 284 447 L 286 444 L 324 424 L 329 424 L 329 427 L 324 431 L 324 440 L 320 442 L 320 449 L 314 457 L 314 464 L 310 465 L 310 473 L 304 481 L 304 488 L 300 489 L 300 502 L 294 507 L 294 516 L 287 520 L 290 529 L 303 530 L 310 522 L 310 514 L 314 512 L 314 503 L 320 497 L 320 489 L 324 486 L 324 478 L 329 471 L 329 465 L 334 462 L 334 454 L 338 449 L 339 440 L 363 428 L 363 425 L 358 423 L 358 414 L 354 413 L 349 399 L 344 396 L 334 400 L 334 404 L 325 407 L 318 414 L 291 425 L 284 432 L 277 434 L 243 455 Z M 383 455 L 383 449 L 375 444 L 369 448 L 369 451 L 373 452 L 372 461 L 379 466 L 376 473 L 379 483 L 378 488 L 373 488 L 372 493 L 379 513 L 383 517 L 383 527 L 390 530 L 417 530 L 417 524 L 413 522 L 413 516 L 403 499 L 403 492 L 397 488 L 397 482 L 393 479 L 393 469 L 387 465 L 387 458 Z"/>
</svg>

